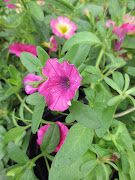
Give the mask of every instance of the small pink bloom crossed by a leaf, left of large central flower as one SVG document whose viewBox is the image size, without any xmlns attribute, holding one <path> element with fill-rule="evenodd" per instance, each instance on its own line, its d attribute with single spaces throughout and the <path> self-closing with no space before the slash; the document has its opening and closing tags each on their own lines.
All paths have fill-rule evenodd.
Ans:
<svg viewBox="0 0 135 180">
<path fill-rule="evenodd" d="M 25 92 L 27 94 L 35 93 L 37 91 L 37 88 L 33 88 L 33 85 L 35 85 L 35 84 L 29 85 L 27 83 L 33 82 L 33 81 L 41 81 L 42 79 L 44 79 L 44 78 L 42 78 L 40 76 L 36 76 L 34 74 L 28 74 L 27 76 L 25 76 L 25 78 L 23 79 L 23 84 L 25 85 Z"/>
</svg>

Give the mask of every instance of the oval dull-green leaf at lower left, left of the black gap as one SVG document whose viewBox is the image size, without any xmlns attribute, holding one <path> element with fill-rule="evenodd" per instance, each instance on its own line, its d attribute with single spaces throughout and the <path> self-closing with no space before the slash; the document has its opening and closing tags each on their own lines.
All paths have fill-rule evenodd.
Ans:
<svg viewBox="0 0 135 180">
<path fill-rule="evenodd" d="M 23 164 L 29 161 L 25 152 L 17 147 L 13 142 L 9 142 L 8 144 L 8 154 L 9 157 L 17 163 Z"/>
</svg>

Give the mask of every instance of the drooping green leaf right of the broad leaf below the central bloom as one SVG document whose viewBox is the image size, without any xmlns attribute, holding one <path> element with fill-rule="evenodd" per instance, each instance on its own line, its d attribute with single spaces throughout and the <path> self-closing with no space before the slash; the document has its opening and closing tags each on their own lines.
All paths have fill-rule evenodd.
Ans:
<svg viewBox="0 0 135 180">
<path fill-rule="evenodd" d="M 115 109 L 116 109 L 115 106 L 111 106 L 111 107 L 104 108 L 102 110 L 102 113 L 101 113 L 102 127 L 100 129 L 96 129 L 96 134 L 98 137 L 101 138 L 106 133 L 108 128 L 111 126 Z"/>
</svg>

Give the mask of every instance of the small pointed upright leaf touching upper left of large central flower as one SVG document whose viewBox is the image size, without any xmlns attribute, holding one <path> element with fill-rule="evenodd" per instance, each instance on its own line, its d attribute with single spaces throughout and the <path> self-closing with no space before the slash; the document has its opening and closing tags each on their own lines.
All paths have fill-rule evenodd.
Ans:
<svg viewBox="0 0 135 180">
<path fill-rule="evenodd" d="M 48 59 L 50 59 L 49 55 L 47 54 L 47 52 L 42 49 L 41 47 L 37 47 L 37 54 L 38 54 L 38 58 L 42 64 L 42 66 L 45 66 L 45 63 Z"/>
</svg>

